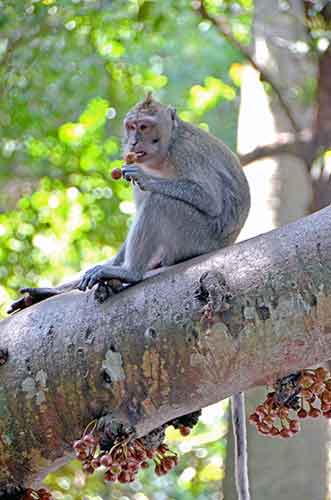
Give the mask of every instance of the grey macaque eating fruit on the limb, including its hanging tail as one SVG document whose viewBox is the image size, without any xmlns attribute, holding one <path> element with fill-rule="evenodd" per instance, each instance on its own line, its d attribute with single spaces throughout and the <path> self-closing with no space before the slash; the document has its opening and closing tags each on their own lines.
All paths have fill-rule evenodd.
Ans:
<svg viewBox="0 0 331 500">
<path fill-rule="evenodd" d="M 111 285 L 112 280 L 139 283 L 148 272 L 235 242 L 249 212 L 250 191 L 236 155 L 220 139 L 148 95 L 124 119 L 123 153 L 136 157 L 134 164 L 122 167 L 123 177 L 133 184 L 136 215 L 118 254 L 70 283 L 22 289 L 28 296 L 14 302 L 10 312 L 72 289 Z M 242 396 L 235 395 L 233 419 L 241 428 L 242 403 Z M 246 449 L 241 437 L 239 441 L 238 468 Z M 239 498 L 248 500 L 248 487 L 242 486 L 247 473 L 238 475 Z"/>
</svg>

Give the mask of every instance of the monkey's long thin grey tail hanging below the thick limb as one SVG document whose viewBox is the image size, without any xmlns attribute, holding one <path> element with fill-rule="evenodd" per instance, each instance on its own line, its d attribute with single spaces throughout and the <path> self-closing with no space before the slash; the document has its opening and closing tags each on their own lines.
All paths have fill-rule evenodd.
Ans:
<svg viewBox="0 0 331 500">
<path fill-rule="evenodd" d="M 250 500 L 248 480 L 248 454 L 246 433 L 245 395 L 243 392 L 233 394 L 232 428 L 234 435 L 235 476 L 238 500 Z"/>
</svg>

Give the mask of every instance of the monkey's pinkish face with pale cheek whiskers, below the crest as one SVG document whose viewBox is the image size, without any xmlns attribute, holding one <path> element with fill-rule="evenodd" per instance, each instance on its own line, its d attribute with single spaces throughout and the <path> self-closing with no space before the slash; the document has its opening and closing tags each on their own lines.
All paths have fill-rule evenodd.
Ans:
<svg viewBox="0 0 331 500">
<path fill-rule="evenodd" d="M 171 130 L 169 112 L 129 113 L 124 120 L 124 154 L 132 151 L 136 153 L 137 163 L 160 169 L 167 157 Z"/>
</svg>

